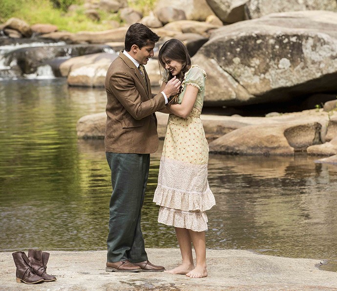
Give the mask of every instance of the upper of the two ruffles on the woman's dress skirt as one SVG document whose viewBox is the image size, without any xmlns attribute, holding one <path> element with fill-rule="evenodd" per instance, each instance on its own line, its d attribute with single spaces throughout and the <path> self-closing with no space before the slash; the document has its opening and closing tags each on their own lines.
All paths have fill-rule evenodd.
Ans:
<svg viewBox="0 0 337 291">
<path fill-rule="evenodd" d="M 215 205 L 215 198 L 208 183 L 206 190 L 202 193 L 173 189 L 158 184 L 153 202 L 163 207 L 182 211 L 206 211 Z"/>
</svg>

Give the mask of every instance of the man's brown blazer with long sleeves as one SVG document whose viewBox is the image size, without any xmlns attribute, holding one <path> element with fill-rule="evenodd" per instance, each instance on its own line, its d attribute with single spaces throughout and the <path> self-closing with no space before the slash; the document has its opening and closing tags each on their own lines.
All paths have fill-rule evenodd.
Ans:
<svg viewBox="0 0 337 291">
<path fill-rule="evenodd" d="M 105 152 L 150 154 L 158 149 L 154 112 L 165 107 L 162 93 L 151 96 L 139 69 L 120 52 L 105 77 Z"/>
</svg>

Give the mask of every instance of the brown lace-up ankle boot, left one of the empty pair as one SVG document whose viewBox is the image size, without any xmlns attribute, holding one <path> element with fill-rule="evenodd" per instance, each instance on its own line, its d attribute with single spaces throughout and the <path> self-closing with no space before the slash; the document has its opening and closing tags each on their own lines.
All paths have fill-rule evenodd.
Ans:
<svg viewBox="0 0 337 291">
<path fill-rule="evenodd" d="M 12 255 L 15 266 L 17 267 L 16 276 L 18 283 L 35 284 L 43 282 L 43 278 L 34 273 L 34 270 L 23 251 L 16 251 L 12 253 Z"/>
</svg>

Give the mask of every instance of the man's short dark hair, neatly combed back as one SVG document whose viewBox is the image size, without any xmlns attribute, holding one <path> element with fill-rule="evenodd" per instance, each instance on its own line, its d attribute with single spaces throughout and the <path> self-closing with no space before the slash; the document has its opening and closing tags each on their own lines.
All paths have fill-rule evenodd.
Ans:
<svg viewBox="0 0 337 291">
<path fill-rule="evenodd" d="M 134 23 L 126 31 L 125 35 L 125 50 L 130 51 L 132 45 L 137 45 L 139 48 L 148 43 L 158 42 L 160 37 L 151 29 L 142 23 Z"/>
</svg>

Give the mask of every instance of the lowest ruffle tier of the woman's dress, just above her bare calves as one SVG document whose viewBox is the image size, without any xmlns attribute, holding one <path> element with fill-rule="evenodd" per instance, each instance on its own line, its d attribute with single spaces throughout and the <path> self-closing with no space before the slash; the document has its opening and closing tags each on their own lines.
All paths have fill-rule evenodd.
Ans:
<svg viewBox="0 0 337 291">
<path fill-rule="evenodd" d="M 208 229 L 208 218 L 205 212 L 186 212 L 177 209 L 160 207 L 158 222 L 198 232 Z"/>
</svg>

